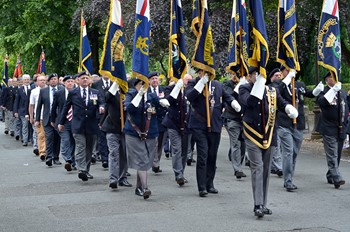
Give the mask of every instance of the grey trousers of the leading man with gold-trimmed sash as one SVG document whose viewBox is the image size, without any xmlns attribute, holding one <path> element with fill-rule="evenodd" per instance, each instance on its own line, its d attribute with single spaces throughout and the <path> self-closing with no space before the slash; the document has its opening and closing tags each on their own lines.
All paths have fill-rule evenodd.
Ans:
<svg viewBox="0 0 350 232">
<path fill-rule="evenodd" d="M 254 205 L 266 206 L 271 170 L 271 149 L 274 147 L 263 150 L 249 139 L 246 139 L 245 142 L 250 160 Z"/>
</svg>

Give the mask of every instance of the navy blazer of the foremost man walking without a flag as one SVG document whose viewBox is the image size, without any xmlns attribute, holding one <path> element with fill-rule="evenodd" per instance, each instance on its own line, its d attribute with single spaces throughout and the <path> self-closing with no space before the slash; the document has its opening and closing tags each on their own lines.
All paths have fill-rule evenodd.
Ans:
<svg viewBox="0 0 350 232">
<path fill-rule="evenodd" d="M 91 96 L 97 96 L 91 100 Z M 72 106 L 73 119 L 71 121 L 73 134 L 98 134 L 99 107 L 104 107 L 104 100 L 98 90 L 89 88 L 87 94 L 88 104 L 81 97 L 81 88 L 77 87 L 69 91 L 66 103 L 60 115 L 59 124 L 64 125 L 67 120 L 69 108 Z"/>
</svg>

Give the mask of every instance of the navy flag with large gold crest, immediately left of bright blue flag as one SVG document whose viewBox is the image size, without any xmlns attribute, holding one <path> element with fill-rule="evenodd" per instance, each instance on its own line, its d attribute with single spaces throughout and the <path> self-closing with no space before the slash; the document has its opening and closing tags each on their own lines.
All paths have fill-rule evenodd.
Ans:
<svg viewBox="0 0 350 232">
<path fill-rule="evenodd" d="M 100 74 L 116 81 L 121 90 L 128 91 L 124 65 L 124 28 L 120 0 L 111 0 L 109 21 L 100 62 Z"/>
</svg>

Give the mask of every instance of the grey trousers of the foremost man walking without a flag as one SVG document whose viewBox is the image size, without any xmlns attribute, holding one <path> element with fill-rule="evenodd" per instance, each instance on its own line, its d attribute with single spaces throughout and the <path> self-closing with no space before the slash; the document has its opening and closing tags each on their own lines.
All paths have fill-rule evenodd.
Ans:
<svg viewBox="0 0 350 232">
<path fill-rule="evenodd" d="M 90 171 L 93 144 L 97 135 L 73 134 L 75 140 L 75 163 L 79 171 Z"/>
</svg>

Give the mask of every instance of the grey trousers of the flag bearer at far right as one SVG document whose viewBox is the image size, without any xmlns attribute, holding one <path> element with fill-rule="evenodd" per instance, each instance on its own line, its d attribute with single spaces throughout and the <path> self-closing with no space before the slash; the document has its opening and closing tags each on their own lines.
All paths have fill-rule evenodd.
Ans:
<svg viewBox="0 0 350 232">
<path fill-rule="evenodd" d="M 343 143 L 344 143 L 344 140 L 343 140 Z M 332 178 L 335 182 L 339 182 L 343 178 L 339 171 L 338 140 L 334 136 L 323 135 L 323 146 L 326 152 L 328 173 L 330 175 L 330 176 L 327 176 L 327 178 L 329 179 Z"/>
</svg>

